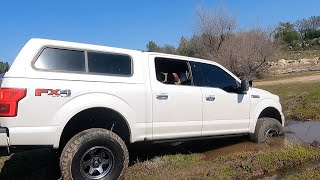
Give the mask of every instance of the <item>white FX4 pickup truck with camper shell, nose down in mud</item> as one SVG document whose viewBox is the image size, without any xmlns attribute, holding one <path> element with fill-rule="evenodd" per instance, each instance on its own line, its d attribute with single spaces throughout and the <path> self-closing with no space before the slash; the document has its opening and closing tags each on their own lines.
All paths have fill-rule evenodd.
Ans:
<svg viewBox="0 0 320 180">
<path fill-rule="evenodd" d="M 0 146 L 61 149 L 64 179 L 123 177 L 134 142 L 283 133 L 278 96 L 202 59 L 31 39 L 0 83 Z"/>
</svg>

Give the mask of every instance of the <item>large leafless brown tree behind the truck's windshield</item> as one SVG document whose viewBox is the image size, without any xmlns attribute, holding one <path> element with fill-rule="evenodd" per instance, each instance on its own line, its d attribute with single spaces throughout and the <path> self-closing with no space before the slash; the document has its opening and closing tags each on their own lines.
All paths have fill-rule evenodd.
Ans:
<svg viewBox="0 0 320 180">
<path fill-rule="evenodd" d="M 198 39 L 201 58 L 219 62 L 242 78 L 252 79 L 264 72 L 267 61 L 273 60 L 278 45 L 269 32 L 261 28 L 237 30 L 237 18 L 221 6 L 215 10 L 200 8 Z"/>
</svg>

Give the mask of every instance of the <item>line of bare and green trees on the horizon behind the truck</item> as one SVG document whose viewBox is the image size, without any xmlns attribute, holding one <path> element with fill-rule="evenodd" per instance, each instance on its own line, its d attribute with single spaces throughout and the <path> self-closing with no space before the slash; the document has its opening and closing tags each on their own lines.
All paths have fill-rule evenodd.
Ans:
<svg viewBox="0 0 320 180">
<path fill-rule="evenodd" d="M 222 6 L 199 8 L 196 18 L 196 33 L 189 38 L 182 36 L 178 47 L 150 41 L 147 51 L 212 60 L 241 78 L 253 79 L 266 74 L 268 62 L 290 53 L 301 58 L 301 51 L 320 47 L 320 16 L 280 22 L 272 31 L 259 26 L 241 29 L 237 17 Z"/>
</svg>

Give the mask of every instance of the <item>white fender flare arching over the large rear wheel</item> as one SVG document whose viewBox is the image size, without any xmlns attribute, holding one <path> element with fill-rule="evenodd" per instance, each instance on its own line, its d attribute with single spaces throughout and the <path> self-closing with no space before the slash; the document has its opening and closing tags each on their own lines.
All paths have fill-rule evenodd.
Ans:
<svg viewBox="0 0 320 180">
<path fill-rule="evenodd" d="M 73 98 L 57 111 L 53 120 L 59 125 L 54 138 L 53 147 L 59 147 L 62 131 L 73 116 L 83 110 L 95 107 L 109 108 L 121 114 L 125 118 L 129 126 L 131 132 L 130 141 L 132 142 L 135 139 L 132 127 L 134 127 L 133 125 L 136 120 L 136 113 L 130 107 L 130 105 L 123 99 L 111 94 L 89 93 Z"/>
</svg>

